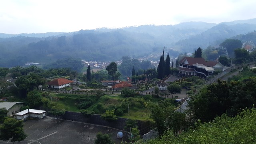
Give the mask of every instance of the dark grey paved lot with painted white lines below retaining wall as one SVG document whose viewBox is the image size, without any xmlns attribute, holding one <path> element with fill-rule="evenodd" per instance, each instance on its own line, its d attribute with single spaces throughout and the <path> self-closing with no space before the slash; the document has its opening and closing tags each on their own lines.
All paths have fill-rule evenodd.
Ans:
<svg viewBox="0 0 256 144">
<path fill-rule="evenodd" d="M 122 141 L 122 139 L 116 138 L 119 130 L 81 122 L 47 117 L 42 120 L 28 120 L 24 124 L 24 130 L 28 137 L 19 144 L 94 144 L 98 132 L 111 134 L 112 140 L 116 144 L 120 144 Z M 125 133 L 123 139 L 128 140 Z M 0 141 L 0 144 L 10 143 L 10 141 Z"/>
</svg>

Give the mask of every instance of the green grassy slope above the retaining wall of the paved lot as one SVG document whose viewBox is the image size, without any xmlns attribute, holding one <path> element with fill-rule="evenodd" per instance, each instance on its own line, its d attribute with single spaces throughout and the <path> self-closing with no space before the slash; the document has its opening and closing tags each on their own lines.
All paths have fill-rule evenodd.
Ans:
<svg viewBox="0 0 256 144">
<path fill-rule="evenodd" d="M 107 94 L 98 98 L 97 96 L 76 95 L 76 94 L 56 94 L 51 93 L 52 105 L 58 109 L 64 109 L 72 112 L 80 112 L 80 102 L 88 99 L 91 100 L 90 106 L 87 110 L 94 111 L 96 114 L 103 114 L 106 110 L 123 110 L 123 114 L 119 117 L 131 118 L 137 120 L 148 119 L 148 110 L 143 103 L 147 100 L 159 101 L 162 98 L 152 98 L 151 96 L 136 96 L 135 98 L 125 98 L 120 94 Z M 129 108 L 128 108 L 129 107 Z"/>
</svg>

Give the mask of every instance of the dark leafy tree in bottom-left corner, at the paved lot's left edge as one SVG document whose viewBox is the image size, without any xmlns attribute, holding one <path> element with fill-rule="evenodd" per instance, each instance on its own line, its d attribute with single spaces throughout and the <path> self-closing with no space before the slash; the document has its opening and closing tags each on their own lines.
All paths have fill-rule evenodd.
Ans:
<svg viewBox="0 0 256 144">
<path fill-rule="evenodd" d="M 23 130 L 22 120 L 16 118 L 6 118 L 4 123 L 0 125 L 0 140 L 9 140 L 11 142 L 20 142 L 24 140 L 27 135 Z"/>
</svg>

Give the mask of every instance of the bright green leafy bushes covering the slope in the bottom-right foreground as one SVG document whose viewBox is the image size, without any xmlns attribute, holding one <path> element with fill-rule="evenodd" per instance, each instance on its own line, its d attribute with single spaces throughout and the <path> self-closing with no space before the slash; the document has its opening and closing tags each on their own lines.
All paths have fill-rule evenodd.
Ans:
<svg viewBox="0 0 256 144">
<path fill-rule="evenodd" d="M 244 110 L 235 117 L 223 115 L 213 122 L 199 123 L 196 130 L 175 137 L 170 131 L 146 144 L 254 144 L 256 110 Z"/>
</svg>

